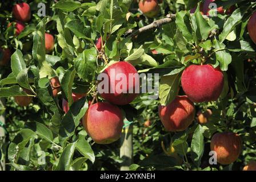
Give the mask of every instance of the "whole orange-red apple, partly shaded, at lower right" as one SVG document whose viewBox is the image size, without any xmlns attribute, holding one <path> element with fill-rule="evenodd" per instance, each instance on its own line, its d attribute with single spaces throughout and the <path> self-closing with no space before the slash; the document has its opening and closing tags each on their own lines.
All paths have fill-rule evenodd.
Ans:
<svg viewBox="0 0 256 182">
<path fill-rule="evenodd" d="M 242 140 L 235 133 L 216 133 L 211 138 L 211 151 L 217 153 L 217 162 L 231 164 L 238 159 L 242 151 Z"/>
</svg>

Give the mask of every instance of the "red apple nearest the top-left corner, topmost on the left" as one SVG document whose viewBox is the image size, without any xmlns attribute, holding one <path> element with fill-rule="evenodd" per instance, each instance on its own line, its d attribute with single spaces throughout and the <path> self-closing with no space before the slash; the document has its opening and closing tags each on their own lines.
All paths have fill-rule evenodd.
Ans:
<svg viewBox="0 0 256 182">
<path fill-rule="evenodd" d="M 21 22 L 29 22 L 31 18 L 30 6 L 25 2 L 14 5 L 13 16 Z"/>
</svg>

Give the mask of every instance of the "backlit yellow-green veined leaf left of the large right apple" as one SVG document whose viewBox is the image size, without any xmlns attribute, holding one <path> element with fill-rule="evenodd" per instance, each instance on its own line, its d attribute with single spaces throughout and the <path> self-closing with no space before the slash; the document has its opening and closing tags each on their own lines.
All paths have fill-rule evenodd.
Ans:
<svg viewBox="0 0 256 182">
<path fill-rule="evenodd" d="M 167 105 L 175 99 L 179 92 L 181 74 L 163 76 L 160 80 L 159 99 L 161 105 Z"/>
</svg>

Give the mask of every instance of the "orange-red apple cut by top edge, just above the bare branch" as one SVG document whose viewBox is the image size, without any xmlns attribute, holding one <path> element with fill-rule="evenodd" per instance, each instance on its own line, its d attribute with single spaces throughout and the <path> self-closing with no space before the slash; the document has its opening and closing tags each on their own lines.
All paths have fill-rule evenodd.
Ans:
<svg viewBox="0 0 256 182">
<path fill-rule="evenodd" d="M 140 0 L 139 9 L 144 15 L 153 18 L 159 12 L 159 5 L 157 0 Z"/>
</svg>

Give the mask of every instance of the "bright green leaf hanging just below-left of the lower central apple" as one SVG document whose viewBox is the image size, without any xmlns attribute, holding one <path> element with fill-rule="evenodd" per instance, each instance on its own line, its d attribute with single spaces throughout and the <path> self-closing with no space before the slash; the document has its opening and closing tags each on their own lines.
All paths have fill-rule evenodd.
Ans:
<svg viewBox="0 0 256 182">
<path fill-rule="evenodd" d="M 77 150 L 85 156 L 85 158 L 89 159 L 92 163 L 95 161 L 95 156 L 93 150 L 91 150 L 91 146 L 87 140 L 85 140 L 85 136 L 80 135 L 77 141 Z"/>
</svg>

